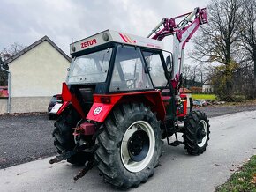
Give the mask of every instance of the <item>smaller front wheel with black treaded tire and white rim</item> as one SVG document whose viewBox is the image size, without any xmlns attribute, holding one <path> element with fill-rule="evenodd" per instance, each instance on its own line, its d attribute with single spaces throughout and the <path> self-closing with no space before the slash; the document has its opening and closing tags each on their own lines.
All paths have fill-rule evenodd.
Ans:
<svg viewBox="0 0 256 192">
<path fill-rule="evenodd" d="M 184 148 L 191 155 L 206 151 L 209 140 L 209 120 L 205 113 L 192 111 L 184 121 Z"/>
</svg>

